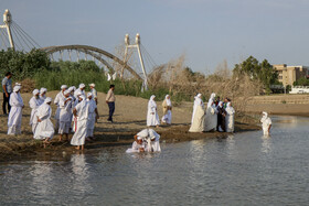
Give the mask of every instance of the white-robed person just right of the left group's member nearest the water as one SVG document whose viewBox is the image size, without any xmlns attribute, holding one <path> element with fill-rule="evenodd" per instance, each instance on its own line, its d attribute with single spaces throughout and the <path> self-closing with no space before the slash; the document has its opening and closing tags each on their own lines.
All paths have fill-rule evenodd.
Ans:
<svg viewBox="0 0 309 206">
<path fill-rule="evenodd" d="M 92 93 L 87 94 L 87 102 L 89 105 L 87 138 L 93 139 L 94 138 L 94 129 L 95 129 L 96 119 L 98 119 L 99 116 L 98 116 L 98 112 L 97 112 L 97 105 L 96 105 L 96 101 L 93 98 Z"/>
</svg>

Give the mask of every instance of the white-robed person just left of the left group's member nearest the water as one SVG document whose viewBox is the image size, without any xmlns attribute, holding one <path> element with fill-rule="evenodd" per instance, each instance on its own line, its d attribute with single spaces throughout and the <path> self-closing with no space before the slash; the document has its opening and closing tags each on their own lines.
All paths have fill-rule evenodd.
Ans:
<svg viewBox="0 0 309 206">
<path fill-rule="evenodd" d="M 72 104 L 73 99 L 70 97 L 70 90 L 63 93 L 64 98 L 60 98 L 58 108 L 60 108 L 60 118 L 58 118 L 58 134 L 60 141 L 62 141 L 63 134 L 68 139 L 68 132 L 71 128 L 72 120 Z"/>
</svg>

